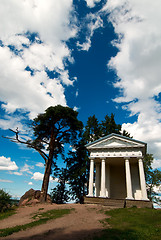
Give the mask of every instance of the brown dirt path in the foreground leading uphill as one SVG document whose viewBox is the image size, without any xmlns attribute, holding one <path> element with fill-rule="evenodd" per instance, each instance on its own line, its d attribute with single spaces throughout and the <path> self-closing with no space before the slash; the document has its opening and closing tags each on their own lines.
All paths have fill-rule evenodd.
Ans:
<svg viewBox="0 0 161 240">
<path fill-rule="evenodd" d="M 101 233 L 104 225 L 100 222 L 107 218 L 103 211 L 107 207 L 100 205 L 80 205 L 80 204 L 66 204 L 66 205 L 37 205 L 33 207 L 19 208 L 18 212 L 2 221 L 0 221 L 0 228 L 7 228 L 16 225 L 29 223 L 32 216 L 38 212 L 61 209 L 61 208 L 74 208 L 70 214 L 64 215 L 61 218 L 50 220 L 46 224 L 14 233 L 8 237 L 0 239 L 16 239 L 16 240 L 80 240 L 91 239 L 91 236 Z"/>
</svg>

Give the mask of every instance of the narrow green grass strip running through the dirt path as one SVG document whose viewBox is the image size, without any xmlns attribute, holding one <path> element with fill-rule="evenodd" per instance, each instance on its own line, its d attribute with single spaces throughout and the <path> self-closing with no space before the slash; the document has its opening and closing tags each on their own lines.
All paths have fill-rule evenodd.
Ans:
<svg viewBox="0 0 161 240">
<path fill-rule="evenodd" d="M 24 225 L 18 225 L 15 227 L 0 229 L 0 237 L 6 237 L 8 235 L 11 235 L 15 232 L 19 232 L 21 230 L 26 230 L 28 228 L 33 228 L 35 226 L 39 226 L 41 224 L 46 223 L 47 221 L 51 219 L 56 219 L 59 217 L 64 216 L 65 214 L 69 214 L 71 212 L 71 209 L 60 209 L 60 210 L 50 210 L 44 213 L 37 213 L 33 216 L 33 219 L 37 219 L 31 223 L 27 223 Z"/>
</svg>

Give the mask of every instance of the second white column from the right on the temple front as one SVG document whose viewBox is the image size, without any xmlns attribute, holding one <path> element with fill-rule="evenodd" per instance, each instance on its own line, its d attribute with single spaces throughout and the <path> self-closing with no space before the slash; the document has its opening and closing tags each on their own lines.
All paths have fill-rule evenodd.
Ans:
<svg viewBox="0 0 161 240">
<path fill-rule="evenodd" d="M 129 159 L 125 160 L 125 172 L 126 172 L 126 199 L 134 199 L 132 196 L 132 183 L 131 183 L 131 172 L 130 172 L 130 163 Z"/>
</svg>

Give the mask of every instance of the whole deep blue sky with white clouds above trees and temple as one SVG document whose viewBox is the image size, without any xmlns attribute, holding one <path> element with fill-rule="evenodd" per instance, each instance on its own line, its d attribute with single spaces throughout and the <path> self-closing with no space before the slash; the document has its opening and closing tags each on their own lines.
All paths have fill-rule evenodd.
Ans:
<svg viewBox="0 0 161 240">
<path fill-rule="evenodd" d="M 114 113 L 161 168 L 160 9 L 160 0 L 0 1 L 0 188 L 15 198 L 41 188 L 43 159 L 1 136 L 18 127 L 26 138 L 27 123 L 58 104 L 84 124 Z"/>
</svg>

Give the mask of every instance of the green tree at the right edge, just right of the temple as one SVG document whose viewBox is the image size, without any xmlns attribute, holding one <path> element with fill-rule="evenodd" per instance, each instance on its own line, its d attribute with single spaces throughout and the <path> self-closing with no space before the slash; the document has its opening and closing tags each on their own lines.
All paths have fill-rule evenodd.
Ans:
<svg viewBox="0 0 161 240">
<path fill-rule="evenodd" d="M 152 163 L 154 161 L 152 154 L 146 154 L 144 157 L 144 171 L 145 179 L 148 186 L 148 198 L 155 202 L 159 203 L 160 200 L 157 198 L 157 193 L 154 188 L 161 185 L 161 171 L 158 169 L 152 168 Z"/>
</svg>

